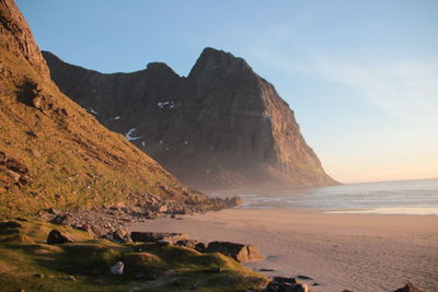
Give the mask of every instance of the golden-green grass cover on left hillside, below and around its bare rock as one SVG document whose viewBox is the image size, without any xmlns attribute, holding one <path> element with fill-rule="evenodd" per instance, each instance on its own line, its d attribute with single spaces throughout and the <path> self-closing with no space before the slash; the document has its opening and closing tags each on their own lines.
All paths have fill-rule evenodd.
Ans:
<svg viewBox="0 0 438 292">
<path fill-rule="evenodd" d="M 0 48 L 0 63 L 11 72 L 0 87 L 0 151 L 31 172 L 27 186 L 0 188 L 0 212 L 89 208 L 135 201 L 145 192 L 185 199 L 188 190 L 172 175 L 124 137 L 105 129 L 24 58 Z M 44 114 L 32 106 L 24 96 L 26 81 L 38 83 L 68 116 Z"/>
</svg>

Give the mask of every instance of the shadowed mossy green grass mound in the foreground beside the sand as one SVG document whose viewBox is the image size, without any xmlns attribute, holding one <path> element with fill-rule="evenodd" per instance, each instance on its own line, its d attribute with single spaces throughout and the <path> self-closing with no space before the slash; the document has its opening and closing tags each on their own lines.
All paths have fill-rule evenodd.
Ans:
<svg viewBox="0 0 438 292">
<path fill-rule="evenodd" d="M 221 254 L 173 245 L 119 245 L 44 221 L 16 222 L 21 227 L 2 227 L 0 234 L 1 291 L 246 291 L 266 283 L 264 276 Z M 47 245 L 54 227 L 74 242 Z M 125 273 L 113 276 L 110 268 L 119 260 Z M 211 268 L 222 271 L 211 272 Z M 39 273 L 44 278 L 35 277 Z M 157 280 L 137 280 L 139 275 L 154 275 Z"/>
</svg>

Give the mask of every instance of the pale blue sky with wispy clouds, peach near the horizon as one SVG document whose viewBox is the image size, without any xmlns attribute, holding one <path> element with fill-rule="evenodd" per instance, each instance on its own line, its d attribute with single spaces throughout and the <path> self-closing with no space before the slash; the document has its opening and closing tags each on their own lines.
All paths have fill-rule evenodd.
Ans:
<svg viewBox="0 0 438 292">
<path fill-rule="evenodd" d="M 295 110 L 342 183 L 438 177 L 436 0 L 16 0 L 42 49 L 101 72 L 187 75 L 215 47 Z"/>
</svg>

